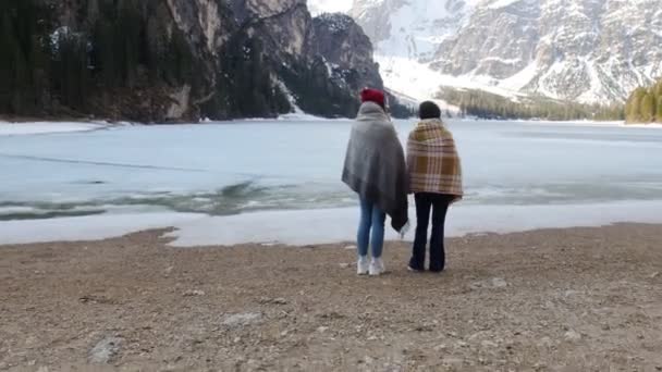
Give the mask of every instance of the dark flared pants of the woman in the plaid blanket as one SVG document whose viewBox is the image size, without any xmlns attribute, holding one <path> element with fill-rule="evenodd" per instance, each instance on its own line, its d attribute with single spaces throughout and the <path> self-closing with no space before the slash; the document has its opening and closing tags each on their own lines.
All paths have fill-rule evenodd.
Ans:
<svg viewBox="0 0 662 372">
<path fill-rule="evenodd" d="M 414 253 L 409 266 L 414 270 L 425 270 L 426 246 L 428 243 L 428 225 L 430 224 L 430 210 L 432 211 L 432 235 L 430 237 L 430 271 L 441 272 L 445 268 L 444 225 L 449 206 L 455 198 L 452 195 L 419 193 L 416 198 L 416 237 L 414 238 Z"/>
</svg>

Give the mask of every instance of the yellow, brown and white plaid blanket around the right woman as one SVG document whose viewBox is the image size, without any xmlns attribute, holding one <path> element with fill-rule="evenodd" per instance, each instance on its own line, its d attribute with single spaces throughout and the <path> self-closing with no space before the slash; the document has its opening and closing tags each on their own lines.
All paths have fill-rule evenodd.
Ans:
<svg viewBox="0 0 662 372">
<path fill-rule="evenodd" d="M 462 165 L 455 140 L 440 119 L 420 122 L 407 140 L 409 194 L 433 193 L 462 199 Z"/>
</svg>

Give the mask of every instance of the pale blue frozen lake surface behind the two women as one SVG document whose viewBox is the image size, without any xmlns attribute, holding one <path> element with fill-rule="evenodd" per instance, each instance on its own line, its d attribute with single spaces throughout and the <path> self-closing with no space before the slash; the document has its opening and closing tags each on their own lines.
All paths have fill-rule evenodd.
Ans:
<svg viewBox="0 0 662 372">
<path fill-rule="evenodd" d="M 413 124 L 396 123 L 403 140 Z M 257 219 L 246 213 L 353 207 L 353 194 L 340 182 L 350 126 L 259 121 L 0 136 L 0 233 L 2 225 L 75 216 Z M 458 210 L 662 201 L 659 128 L 469 121 L 450 126 L 467 189 Z"/>
</svg>

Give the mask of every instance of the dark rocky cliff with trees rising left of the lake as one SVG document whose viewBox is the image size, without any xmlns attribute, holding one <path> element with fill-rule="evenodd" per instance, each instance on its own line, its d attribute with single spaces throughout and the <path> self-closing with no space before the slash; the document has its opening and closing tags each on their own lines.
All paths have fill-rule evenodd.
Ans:
<svg viewBox="0 0 662 372">
<path fill-rule="evenodd" d="M 1 7 L 16 15 L 1 17 L 2 29 L 28 26 L 34 35 L 0 36 L 12 50 L 0 63 L 15 70 L 11 60 L 28 61 L 47 77 L 39 85 L 34 74 L 21 80 L 2 74 L 4 113 L 168 122 L 301 108 L 353 116 L 358 89 L 383 86 L 361 28 L 344 15 L 312 18 L 305 0 L 7 0 Z M 33 49 L 42 65 L 26 52 Z M 9 97 L 22 89 L 25 95 L 13 96 L 32 98 L 17 104 Z"/>
</svg>

